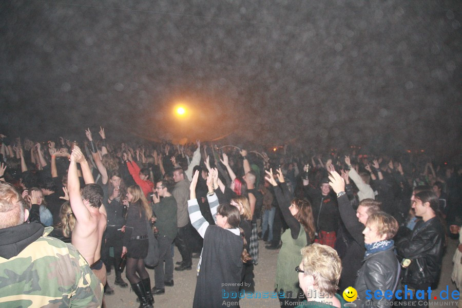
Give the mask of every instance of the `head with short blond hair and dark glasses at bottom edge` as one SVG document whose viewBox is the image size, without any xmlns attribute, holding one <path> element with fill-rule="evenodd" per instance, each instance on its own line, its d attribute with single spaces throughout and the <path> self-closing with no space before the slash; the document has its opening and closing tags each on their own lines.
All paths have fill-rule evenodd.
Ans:
<svg viewBox="0 0 462 308">
<path fill-rule="evenodd" d="M 334 295 L 342 272 L 342 262 L 334 248 L 313 243 L 301 249 L 298 282 L 305 293 L 317 290 Z M 301 272 L 303 271 L 303 272 Z"/>
</svg>

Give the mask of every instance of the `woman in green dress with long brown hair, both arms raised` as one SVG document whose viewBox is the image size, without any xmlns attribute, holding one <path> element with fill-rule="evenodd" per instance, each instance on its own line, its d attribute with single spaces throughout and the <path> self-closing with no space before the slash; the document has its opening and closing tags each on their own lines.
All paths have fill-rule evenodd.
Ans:
<svg viewBox="0 0 462 308">
<path fill-rule="evenodd" d="M 278 206 L 289 226 L 281 235 L 282 246 L 278 254 L 275 288 L 276 292 L 280 294 L 281 307 L 294 307 L 298 304 L 294 299 L 301 294 L 294 268 L 300 263 L 300 249 L 311 244 L 314 240 L 313 210 L 309 201 L 298 198 L 292 199 L 281 168 L 277 170 L 281 187 L 278 186 L 272 169 L 265 172 L 268 175 L 265 180 L 274 186 Z"/>
</svg>

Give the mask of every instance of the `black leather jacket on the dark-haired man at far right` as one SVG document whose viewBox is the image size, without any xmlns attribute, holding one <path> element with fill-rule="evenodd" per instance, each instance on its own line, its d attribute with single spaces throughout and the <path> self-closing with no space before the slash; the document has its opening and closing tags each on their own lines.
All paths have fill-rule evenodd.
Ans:
<svg viewBox="0 0 462 308">
<path fill-rule="evenodd" d="M 411 260 L 405 269 L 402 284 L 425 290 L 436 282 L 441 270 L 445 230 L 438 217 L 419 221 L 411 235 L 396 244 L 398 255 Z"/>
</svg>

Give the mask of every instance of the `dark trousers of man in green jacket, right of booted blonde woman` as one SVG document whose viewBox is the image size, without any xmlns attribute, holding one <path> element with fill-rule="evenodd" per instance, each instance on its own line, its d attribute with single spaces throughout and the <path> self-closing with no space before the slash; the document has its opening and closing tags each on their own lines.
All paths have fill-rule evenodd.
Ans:
<svg viewBox="0 0 462 308">
<path fill-rule="evenodd" d="M 159 264 L 154 267 L 154 280 L 157 288 L 164 288 L 164 282 L 173 279 L 173 258 L 171 257 L 173 240 L 159 235 L 157 241 L 159 242 Z"/>
</svg>

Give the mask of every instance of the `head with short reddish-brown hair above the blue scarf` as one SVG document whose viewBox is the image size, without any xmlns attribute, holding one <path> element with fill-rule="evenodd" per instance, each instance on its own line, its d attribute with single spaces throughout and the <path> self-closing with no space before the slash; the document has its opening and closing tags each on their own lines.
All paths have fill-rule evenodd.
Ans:
<svg viewBox="0 0 462 308">
<path fill-rule="evenodd" d="M 398 232 L 398 222 L 396 219 L 382 211 L 371 214 L 362 232 L 364 243 L 372 244 L 375 242 L 389 240 Z"/>
</svg>

